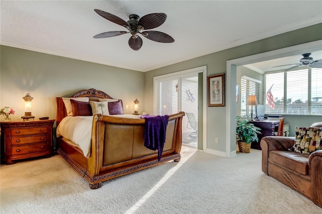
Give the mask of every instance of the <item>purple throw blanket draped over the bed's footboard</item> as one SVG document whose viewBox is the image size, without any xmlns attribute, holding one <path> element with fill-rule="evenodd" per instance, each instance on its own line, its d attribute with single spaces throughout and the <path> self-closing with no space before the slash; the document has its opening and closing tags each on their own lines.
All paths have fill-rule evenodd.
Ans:
<svg viewBox="0 0 322 214">
<path fill-rule="evenodd" d="M 142 115 L 141 118 L 145 119 L 144 146 L 154 151 L 157 149 L 157 160 L 160 161 L 166 142 L 169 116 Z"/>
</svg>

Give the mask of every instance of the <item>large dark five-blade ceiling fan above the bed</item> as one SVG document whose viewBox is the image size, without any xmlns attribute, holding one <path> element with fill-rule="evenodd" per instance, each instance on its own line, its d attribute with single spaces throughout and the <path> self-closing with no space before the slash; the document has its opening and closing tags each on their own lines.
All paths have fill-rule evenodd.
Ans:
<svg viewBox="0 0 322 214">
<path fill-rule="evenodd" d="M 123 34 L 130 33 L 132 36 L 129 39 L 129 46 L 133 50 L 137 51 L 141 48 L 143 41 L 139 37 L 139 34 L 146 37 L 147 39 L 150 39 L 155 42 L 162 42 L 162 43 L 172 43 L 175 40 L 169 36 L 168 34 L 165 34 L 163 32 L 159 31 L 143 31 L 142 30 L 149 30 L 153 28 L 157 28 L 160 25 L 162 25 L 166 19 L 167 15 L 164 13 L 154 13 L 154 14 L 148 14 L 143 16 L 141 19 L 138 15 L 132 14 L 129 16 L 129 21 L 125 22 L 123 19 L 107 13 L 105 11 L 101 11 L 98 9 L 94 10 L 98 15 L 101 17 L 114 22 L 115 24 L 118 24 L 120 26 L 123 26 L 127 28 L 129 31 L 110 31 L 98 34 L 94 36 L 93 38 L 108 38 L 108 37 L 114 37 L 119 36 Z"/>
</svg>

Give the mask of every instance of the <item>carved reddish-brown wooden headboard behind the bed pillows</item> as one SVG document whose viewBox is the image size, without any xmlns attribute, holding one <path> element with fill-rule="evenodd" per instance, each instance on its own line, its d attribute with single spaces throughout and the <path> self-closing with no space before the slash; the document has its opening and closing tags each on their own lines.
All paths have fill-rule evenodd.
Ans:
<svg viewBox="0 0 322 214">
<path fill-rule="evenodd" d="M 99 98 L 113 99 L 107 93 L 100 90 L 96 90 L 94 88 L 87 89 L 87 90 L 80 90 L 69 97 L 89 97 L 90 100 L 94 100 L 94 101 L 97 101 Z M 60 121 L 67 116 L 67 113 L 66 113 L 64 101 L 62 100 L 61 97 L 56 97 L 56 105 L 57 105 L 56 124 L 58 126 Z"/>
</svg>

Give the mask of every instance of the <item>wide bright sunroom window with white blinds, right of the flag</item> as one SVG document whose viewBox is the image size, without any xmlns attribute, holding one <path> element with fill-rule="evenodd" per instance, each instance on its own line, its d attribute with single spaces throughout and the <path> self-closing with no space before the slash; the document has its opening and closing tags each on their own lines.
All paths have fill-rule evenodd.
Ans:
<svg viewBox="0 0 322 214">
<path fill-rule="evenodd" d="M 271 88 L 275 108 L 266 99 L 266 114 L 322 115 L 322 69 L 306 68 L 265 74 L 266 93 Z"/>
</svg>

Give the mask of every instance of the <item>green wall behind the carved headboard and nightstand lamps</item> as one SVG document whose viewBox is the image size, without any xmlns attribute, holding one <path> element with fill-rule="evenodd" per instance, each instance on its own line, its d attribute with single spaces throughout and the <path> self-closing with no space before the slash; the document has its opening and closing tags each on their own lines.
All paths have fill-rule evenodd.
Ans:
<svg viewBox="0 0 322 214">
<path fill-rule="evenodd" d="M 134 100 L 144 105 L 144 73 L 82 60 L 70 59 L 8 46 L 0 46 L 0 106 L 16 111 L 12 120 L 22 120 L 24 100 L 30 93 L 32 115 L 56 119 L 55 97 L 95 88 L 122 99 L 124 114 L 134 112 Z M 126 109 L 126 105 L 129 106 Z M 139 108 L 140 108 L 139 106 Z M 139 112 L 143 112 L 140 108 Z M 4 116 L 0 116 L 4 120 Z"/>
</svg>

